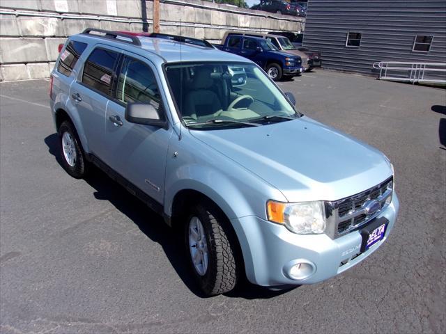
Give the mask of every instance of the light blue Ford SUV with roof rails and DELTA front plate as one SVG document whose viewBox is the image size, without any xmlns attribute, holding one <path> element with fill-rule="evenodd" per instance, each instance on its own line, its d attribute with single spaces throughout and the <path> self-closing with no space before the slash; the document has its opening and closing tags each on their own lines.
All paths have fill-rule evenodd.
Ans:
<svg viewBox="0 0 446 334">
<path fill-rule="evenodd" d="M 50 96 L 66 171 L 99 166 L 181 230 L 209 296 L 240 275 L 276 289 L 331 278 L 397 220 L 384 154 L 303 116 L 258 65 L 192 38 L 87 29 L 64 45 Z"/>
</svg>

